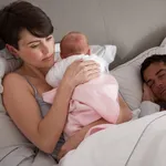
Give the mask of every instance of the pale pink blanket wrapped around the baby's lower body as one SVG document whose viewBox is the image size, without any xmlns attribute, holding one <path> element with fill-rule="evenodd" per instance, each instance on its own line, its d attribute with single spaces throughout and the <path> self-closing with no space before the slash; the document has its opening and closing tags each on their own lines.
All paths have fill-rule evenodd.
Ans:
<svg viewBox="0 0 166 166">
<path fill-rule="evenodd" d="M 43 100 L 53 103 L 56 89 L 43 93 Z M 120 114 L 118 84 L 110 74 L 102 74 L 75 87 L 69 107 L 64 133 L 72 136 L 101 117 L 115 124 Z"/>
</svg>

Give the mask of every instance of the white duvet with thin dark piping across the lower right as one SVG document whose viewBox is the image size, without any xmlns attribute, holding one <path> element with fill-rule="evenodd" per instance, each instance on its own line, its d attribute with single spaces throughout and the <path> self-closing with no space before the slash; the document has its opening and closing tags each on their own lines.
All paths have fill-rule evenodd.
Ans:
<svg viewBox="0 0 166 166">
<path fill-rule="evenodd" d="M 165 166 L 166 112 L 114 125 L 84 139 L 59 166 Z"/>
</svg>

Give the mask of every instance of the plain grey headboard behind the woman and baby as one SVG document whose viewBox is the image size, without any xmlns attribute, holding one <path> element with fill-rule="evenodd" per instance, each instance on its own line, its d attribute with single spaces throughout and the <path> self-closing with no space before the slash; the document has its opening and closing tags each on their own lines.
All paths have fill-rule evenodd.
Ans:
<svg viewBox="0 0 166 166">
<path fill-rule="evenodd" d="M 0 7 L 13 0 L 1 0 Z M 90 44 L 115 44 L 121 64 L 166 37 L 166 0 L 29 0 L 52 19 L 55 41 L 81 31 Z"/>
</svg>

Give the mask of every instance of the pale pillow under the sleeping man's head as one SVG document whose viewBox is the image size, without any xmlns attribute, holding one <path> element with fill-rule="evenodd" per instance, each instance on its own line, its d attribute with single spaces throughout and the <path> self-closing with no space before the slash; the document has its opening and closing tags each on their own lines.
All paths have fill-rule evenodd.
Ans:
<svg viewBox="0 0 166 166">
<path fill-rule="evenodd" d="M 152 48 L 111 71 L 120 84 L 120 93 L 132 110 L 138 108 L 142 101 L 141 64 L 153 54 L 166 54 L 166 46 Z"/>
</svg>

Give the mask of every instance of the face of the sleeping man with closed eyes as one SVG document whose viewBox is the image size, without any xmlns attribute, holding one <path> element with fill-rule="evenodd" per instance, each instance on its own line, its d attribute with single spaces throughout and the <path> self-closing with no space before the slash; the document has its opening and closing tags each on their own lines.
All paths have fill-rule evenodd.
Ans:
<svg viewBox="0 0 166 166">
<path fill-rule="evenodd" d="M 152 63 L 144 71 L 144 79 L 157 100 L 166 102 L 166 64 Z"/>
</svg>

